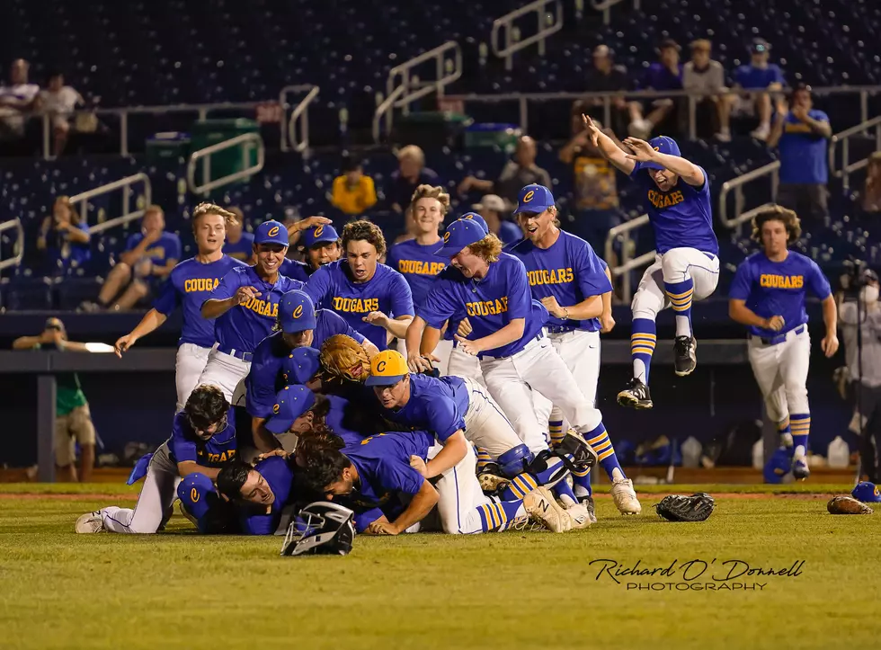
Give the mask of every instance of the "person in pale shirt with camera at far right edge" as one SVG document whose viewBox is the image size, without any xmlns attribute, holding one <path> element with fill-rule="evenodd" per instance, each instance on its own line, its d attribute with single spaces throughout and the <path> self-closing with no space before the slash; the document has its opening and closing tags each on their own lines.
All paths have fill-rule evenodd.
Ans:
<svg viewBox="0 0 881 650">
<path fill-rule="evenodd" d="M 877 273 L 861 264 L 841 278 L 838 313 L 854 404 L 850 431 L 859 435 L 860 476 L 878 479 L 881 432 L 881 303 Z M 859 353 L 858 353 L 859 352 Z"/>
</svg>

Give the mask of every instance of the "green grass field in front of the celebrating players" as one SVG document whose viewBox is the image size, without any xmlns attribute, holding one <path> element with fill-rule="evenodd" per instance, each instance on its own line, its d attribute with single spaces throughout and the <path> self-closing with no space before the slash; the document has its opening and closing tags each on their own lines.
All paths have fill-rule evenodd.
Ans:
<svg viewBox="0 0 881 650">
<path fill-rule="evenodd" d="M 682 524 L 658 519 L 645 494 L 691 487 L 640 490 L 635 518 L 598 499 L 600 521 L 562 535 L 358 538 L 348 557 L 281 558 L 280 538 L 200 536 L 179 514 L 159 535 L 73 532 L 83 512 L 133 503 L 125 486 L 0 485 L 0 647 L 877 647 L 881 512 L 833 517 L 828 496 L 798 494 L 842 486 L 704 485 L 766 494 L 726 495 L 708 521 Z M 708 567 L 618 584 L 598 559 Z M 725 560 L 804 565 L 712 580 Z"/>
</svg>

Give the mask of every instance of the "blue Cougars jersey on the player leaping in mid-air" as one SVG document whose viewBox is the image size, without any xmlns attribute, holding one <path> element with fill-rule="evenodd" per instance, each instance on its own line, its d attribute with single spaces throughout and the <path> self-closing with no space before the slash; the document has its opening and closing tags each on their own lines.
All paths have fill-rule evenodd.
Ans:
<svg viewBox="0 0 881 650">
<path fill-rule="evenodd" d="M 697 248 L 703 253 L 719 254 L 719 242 L 713 232 L 709 176 L 702 167 L 700 171 L 704 174 L 704 184 L 700 187 L 680 178 L 669 191 L 660 191 L 648 171 L 638 163 L 630 174 L 645 190 L 654 246 L 659 254 L 671 248 Z"/>
</svg>

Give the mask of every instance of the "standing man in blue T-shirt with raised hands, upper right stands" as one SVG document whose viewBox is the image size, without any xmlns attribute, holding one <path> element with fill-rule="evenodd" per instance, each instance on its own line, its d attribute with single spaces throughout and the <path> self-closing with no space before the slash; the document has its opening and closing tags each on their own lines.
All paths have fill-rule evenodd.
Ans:
<svg viewBox="0 0 881 650">
<path fill-rule="evenodd" d="M 814 109 L 810 86 L 797 85 L 790 94 L 790 103 L 790 109 L 780 107 L 768 138 L 768 146 L 779 150 L 777 202 L 803 219 L 810 217 L 820 223 L 829 213 L 826 140 L 832 137 L 832 127 L 826 113 Z"/>
</svg>

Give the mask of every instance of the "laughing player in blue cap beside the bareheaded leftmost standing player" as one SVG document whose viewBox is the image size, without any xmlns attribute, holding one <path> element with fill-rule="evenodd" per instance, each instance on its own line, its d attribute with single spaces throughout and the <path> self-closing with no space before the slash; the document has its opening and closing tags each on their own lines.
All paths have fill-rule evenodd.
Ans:
<svg viewBox="0 0 881 650">
<path fill-rule="evenodd" d="M 287 250 L 284 226 L 264 221 L 254 234 L 257 263 L 228 272 L 202 303 L 202 316 L 217 319 L 214 334 L 218 345 L 209 353 L 199 383 L 221 387 L 233 404 L 236 387 L 251 369 L 254 348 L 270 334 L 278 318 L 281 297 L 305 286 L 280 275 Z"/>
</svg>

